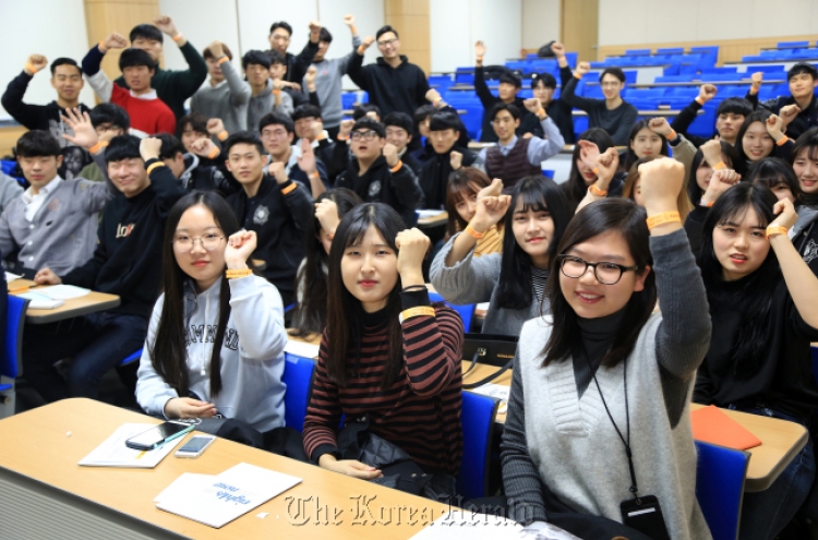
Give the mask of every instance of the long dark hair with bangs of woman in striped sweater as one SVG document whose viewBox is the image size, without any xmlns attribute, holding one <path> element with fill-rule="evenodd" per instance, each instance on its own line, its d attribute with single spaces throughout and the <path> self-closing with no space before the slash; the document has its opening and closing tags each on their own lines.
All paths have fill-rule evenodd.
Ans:
<svg viewBox="0 0 818 540">
<path fill-rule="evenodd" d="M 364 311 L 358 300 L 344 285 L 341 260 L 347 248 L 363 240 L 373 226 L 386 244 L 397 254 L 395 237 L 406 228 L 400 215 L 382 203 L 365 203 L 356 206 L 341 219 L 329 248 L 327 262 L 327 375 L 339 387 L 346 387 L 348 375 L 360 368 L 361 339 L 363 337 Z M 400 332 L 400 274 L 398 283 L 388 293 L 384 320 L 386 321 L 388 358 L 382 388 L 392 386 L 400 373 L 404 362 L 404 341 Z"/>
</svg>

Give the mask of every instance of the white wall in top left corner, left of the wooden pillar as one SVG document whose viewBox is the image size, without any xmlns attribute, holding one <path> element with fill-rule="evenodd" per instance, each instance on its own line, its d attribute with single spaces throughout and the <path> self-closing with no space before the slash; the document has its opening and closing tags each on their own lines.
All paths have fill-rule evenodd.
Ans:
<svg viewBox="0 0 818 540">
<path fill-rule="evenodd" d="M 59 57 L 70 57 L 80 63 L 88 51 L 83 0 L 0 0 L 0 14 L 3 22 L 0 50 L 5 51 L 0 62 L 0 93 L 20 74 L 29 55 L 45 55 L 49 63 Z M 45 105 L 57 99 L 50 77 L 48 68 L 37 73 L 28 84 L 25 101 Z M 94 92 L 87 84 L 80 96 L 85 104 L 94 104 Z M 10 119 L 0 107 L 0 120 Z"/>
</svg>

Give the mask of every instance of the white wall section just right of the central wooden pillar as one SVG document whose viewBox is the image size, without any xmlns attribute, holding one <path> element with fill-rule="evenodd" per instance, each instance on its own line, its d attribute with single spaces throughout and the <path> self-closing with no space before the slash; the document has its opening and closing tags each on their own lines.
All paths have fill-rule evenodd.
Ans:
<svg viewBox="0 0 818 540">
<path fill-rule="evenodd" d="M 485 43 L 483 63 L 519 58 L 522 0 L 430 1 L 432 72 L 474 65 L 474 43 Z"/>
</svg>

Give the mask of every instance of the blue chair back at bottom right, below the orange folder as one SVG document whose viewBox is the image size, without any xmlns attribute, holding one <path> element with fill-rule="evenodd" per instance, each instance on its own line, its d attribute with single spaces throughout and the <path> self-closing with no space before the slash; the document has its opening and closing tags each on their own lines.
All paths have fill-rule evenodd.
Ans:
<svg viewBox="0 0 818 540">
<path fill-rule="evenodd" d="M 749 453 L 696 441 L 696 499 L 713 540 L 736 540 Z"/>
</svg>

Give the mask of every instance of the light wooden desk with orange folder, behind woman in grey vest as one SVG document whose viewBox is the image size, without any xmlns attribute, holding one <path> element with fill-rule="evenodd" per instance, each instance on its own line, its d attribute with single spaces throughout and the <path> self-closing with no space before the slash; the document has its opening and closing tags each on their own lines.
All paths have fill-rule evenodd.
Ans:
<svg viewBox="0 0 818 540">
<path fill-rule="evenodd" d="M 468 365 L 469 362 L 464 360 L 464 372 L 468 369 Z M 480 381 L 498 369 L 493 365 L 478 364 L 471 373 L 464 377 L 464 383 Z M 506 371 L 492 382 L 510 386 L 512 370 Z M 690 410 L 700 407 L 702 406 L 690 404 Z M 746 492 L 763 491 L 769 488 L 807 444 L 807 430 L 795 422 L 748 415 L 737 410 L 721 410 L 761 440 L 761 446 L 747 451 L 750 454 L 750 460 L 747 467 L 747 480 L 744 484 L 744 491 Z M 505 423 L 505 415 L 497 415 L 497 423 Z"/>
</svg>

